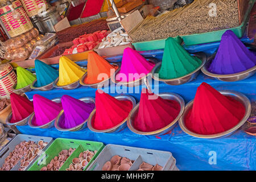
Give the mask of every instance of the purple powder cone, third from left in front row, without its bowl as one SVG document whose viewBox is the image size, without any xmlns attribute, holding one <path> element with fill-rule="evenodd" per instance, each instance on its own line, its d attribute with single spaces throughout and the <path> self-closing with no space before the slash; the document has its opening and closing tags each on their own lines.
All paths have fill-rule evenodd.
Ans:
<svg viewBox="0 0 256 182">
<path fill-rule="evenodd" d="M 88 119 L 95 107 L 93 103 L 86 103 L 67 95 L 61 97 L 61 104 L 65 118 L 60 120 L 59 125 L 63 129 L 70 129 L 80 125 Z"/>
</svg>

